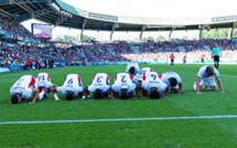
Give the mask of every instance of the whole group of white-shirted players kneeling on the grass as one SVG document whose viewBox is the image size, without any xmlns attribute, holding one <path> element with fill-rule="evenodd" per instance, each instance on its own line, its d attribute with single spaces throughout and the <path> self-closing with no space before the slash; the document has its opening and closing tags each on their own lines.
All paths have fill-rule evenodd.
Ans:
<svg viewBox="0 0 237 148">
<path fill-rule="evenodd" d="M 220 93 L 224 93 L 218 70 L 205 65 L 201 67 L 197 80 L 194 83 L 194 89 L 197 94 L 201 93 L 204 82 L 206 82 L 204 89 L 211 87 L 213 91 L 217 91 L 213 75 L 216 76 Z M 141 98 L 150 97 L 151 99 L 157 99 L 160 97 L 166 98 L 169 92 L 180 95 L 182 87 L 182 80 L 175 72 L 166 72 L 159 75 L 151 67 L 140 70 L 138 63 L 130 62 L 127 65 L 126 73 L 118 73 L 115 76 L 112 85 L 110 85 L 109 75 L 106 73 L 97 73 L 93 77 L 93 83 L 86 86 L 83 86 L 82 77 L 78 74 L 68 74 L 63 86 L 52 84 L 51 76 L 47 73 L 39 73 L 36 77 L 24 75 L 10 88 L 10 103 L 18 104 L 33 96 L 32 102 L 29 103 L 33 104 L 43 97 L 47 97 L 46 89 L 53 94 L 55 101 L 60 101 L 56 95 L 58 92 L 63 93 L 67 101 L 74 99 L 77 95 L 82 99 L 89 98 L 89 93 L 93 93 L 96 99 L 104 97 L 115 99 L 119 96 L 121 99 L 127 99 L 128 97 L 138 98 L 139 93 Z M 134 96 L 133 92 L 136 92 Z"/>
</svg>

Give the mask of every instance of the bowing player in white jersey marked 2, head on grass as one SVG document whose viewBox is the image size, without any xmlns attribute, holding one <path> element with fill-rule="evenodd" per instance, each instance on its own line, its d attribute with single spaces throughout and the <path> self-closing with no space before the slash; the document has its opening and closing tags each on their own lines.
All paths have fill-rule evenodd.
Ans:
<svg viewBox="0 0 237 148">
<path fill-rule="evenodd" d="M 118 97 L 121 94 L 122 99 L 127 99 L 128 96 L 133 96 L 136 84 L 132 83 L 132 76 L 127 73 L 118 73 L 115 76 L 115 84 L 110 87 L 111 99 Z"/>
</svg>

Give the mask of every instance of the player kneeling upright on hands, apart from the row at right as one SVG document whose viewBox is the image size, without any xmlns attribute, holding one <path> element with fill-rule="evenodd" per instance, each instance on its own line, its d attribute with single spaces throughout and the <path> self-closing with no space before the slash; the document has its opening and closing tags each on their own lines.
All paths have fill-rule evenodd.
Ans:
<svg viewBox="0 0 237 148">
<path fill-rule="evenodd" d="M 201 89 L 202 89 L 204 82 L 206 82 L 207 85 L 211 86 L 211 88 L 213 91 L 217 91 L 216 82 L 214 81 L 213 75 L 216 76 L 216 81 L 218 82 L 218 85 L 220 88 L 219 93 L 225 93 L 223 89 L 223 83 L 220 81 L 218 70 L 216 70 L 215 67 L 209 66 L 209 65 L 204 65 L 200 68 L 198 73 L 197 73 L 197 80 L 196 80 L 196 93 L 197 94 L 201 94 Z"/>
</svg>

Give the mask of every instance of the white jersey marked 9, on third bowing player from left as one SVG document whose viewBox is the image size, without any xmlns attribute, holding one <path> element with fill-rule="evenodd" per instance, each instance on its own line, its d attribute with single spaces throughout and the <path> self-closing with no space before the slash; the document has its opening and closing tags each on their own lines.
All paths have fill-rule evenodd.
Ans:
<svg viewBox="0 0 237 148">
<path fill-rule="evenodd" d="M 80 76 L 77 74 L 68 74 L 63 86 L 56 87 L 56 91 L 63 93 L 64 95 L 66 95 L 67 92 L 73 92 L 74 95 L 77 95 L 78 93 L 83 92 Z"/>
</svg>

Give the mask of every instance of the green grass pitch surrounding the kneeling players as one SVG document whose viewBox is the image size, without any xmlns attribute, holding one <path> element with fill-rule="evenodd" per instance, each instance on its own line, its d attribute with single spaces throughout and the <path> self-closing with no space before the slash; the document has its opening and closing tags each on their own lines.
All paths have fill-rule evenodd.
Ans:
<svg viewBox="0 0 237 148">
<path fill-rule="evenodd" d="M 0 74 L 0 123 L 36 120 L 116 119 L 150 117 L 193 117 L 237 115 L 236 65 L 220 65 L 219 73 L 225 94 L 206 89 L 193 91 L 200 64 L 140 65 L 150 66 L 159 74 L 173 71 L 183 81 L 181 95 L 168 98 L 119 98 L 111 101 L 94 98 L 68 102 L 63 94 L 55 102 L 52 94 L 35 104 L 29 101 L 9 104 L 10 87 L 22 75 L 36 76 L 40 72 L 51 75 L 52 83 L 61 86 L 67 74 L 79 74 L 83 84 L 89 85 L 96 73 L 105 72 L 110 84 L 126 65 L 75 66 L 30 72 Z M 0 147 L 120 147 L 120 148 L 235 148 L 237 147 L 237 118 L 195 118 L 86 123 L 0 124 Z"/>
</svg>

